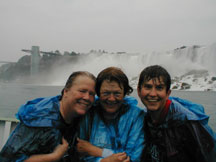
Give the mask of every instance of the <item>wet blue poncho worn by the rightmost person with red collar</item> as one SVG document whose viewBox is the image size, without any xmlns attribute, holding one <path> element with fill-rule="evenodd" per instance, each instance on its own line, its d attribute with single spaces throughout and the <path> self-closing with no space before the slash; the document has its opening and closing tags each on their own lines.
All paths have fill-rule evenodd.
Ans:
<svg viewBox="0 0 216 162">
<path fill-rule="evenodd" d="M 153 124 L 147 113 L 142 162 L 215 162 L 215 134 L 204 108 L 177 97 L 166 118 Z"/>
</svg>

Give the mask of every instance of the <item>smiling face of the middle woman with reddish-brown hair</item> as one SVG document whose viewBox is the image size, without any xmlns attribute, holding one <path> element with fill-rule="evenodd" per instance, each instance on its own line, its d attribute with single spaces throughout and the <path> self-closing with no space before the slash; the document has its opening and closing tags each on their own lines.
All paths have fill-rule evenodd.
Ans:
<svg viewBox="0 0 216 162">
<path fill-rule="evenodd" d="M 107 113 L 115 113 L 122 105 L 124 87 L 116 81 L 104 80 L 100 88 L 100 103 Z"/>
</svg>

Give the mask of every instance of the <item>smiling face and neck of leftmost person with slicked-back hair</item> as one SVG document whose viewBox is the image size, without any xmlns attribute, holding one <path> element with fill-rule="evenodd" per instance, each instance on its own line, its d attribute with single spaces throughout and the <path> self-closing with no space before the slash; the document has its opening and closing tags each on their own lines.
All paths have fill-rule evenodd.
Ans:
<svg viewBox="0 0 216 162">
<path fill-rule="evenodd" d="M 70 78 L 69 78 L 70 79 Z M 72 80 L 72 79 L 71 79 Z M 60 101 L 60 112 L 66 123 L 71 123 L 74 117 L 84 115 L 94 102 L 95 81 L 87 75 L 74 76 L 74 81 L 68 81 Z"/>
</svg>

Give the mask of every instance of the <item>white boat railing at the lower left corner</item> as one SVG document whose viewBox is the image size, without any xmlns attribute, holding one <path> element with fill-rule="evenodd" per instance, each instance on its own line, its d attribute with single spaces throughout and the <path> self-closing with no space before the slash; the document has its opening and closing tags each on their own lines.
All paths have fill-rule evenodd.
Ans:
<svg viewBox="0 0 216 162">
<path fill-rule="evenodd" d="M 14 118 L 0 118 L 0 151 L 18 123 Z"/>
</svg>

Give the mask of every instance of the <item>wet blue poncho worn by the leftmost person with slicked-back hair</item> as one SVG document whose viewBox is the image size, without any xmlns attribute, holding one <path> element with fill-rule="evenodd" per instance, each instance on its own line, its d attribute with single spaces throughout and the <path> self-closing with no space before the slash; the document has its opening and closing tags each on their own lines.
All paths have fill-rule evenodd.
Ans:
<svg viewBox="0 0 216 162">
<path fill-rule="evenodd" d="M 1 162 L 21 162 L 34 154 L 51 153 L 62 136 L 72 143 L 74 132 L 60 115 L 60 98 L 37 98 L 19 108 L 16 117 L 20 123 L 2 148 Z"/>
</svg>

